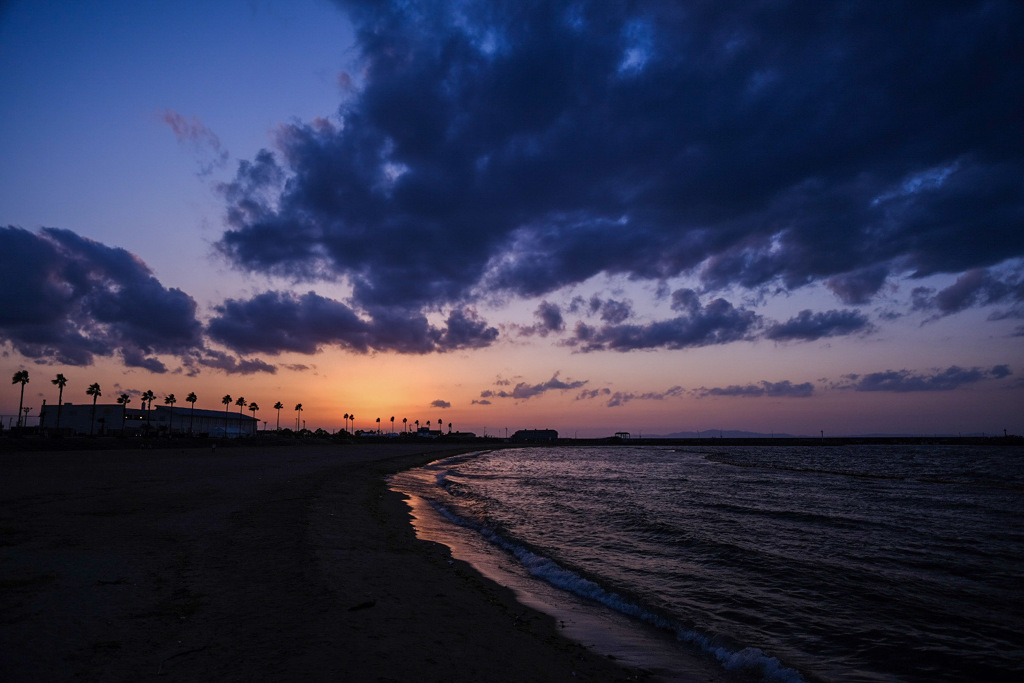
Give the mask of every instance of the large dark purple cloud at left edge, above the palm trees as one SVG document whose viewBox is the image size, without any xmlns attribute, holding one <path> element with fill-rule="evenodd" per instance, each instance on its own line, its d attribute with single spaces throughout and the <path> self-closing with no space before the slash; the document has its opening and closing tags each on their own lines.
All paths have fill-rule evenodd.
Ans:
<svg viewBox="0 0 1024 683">
<path fill-rule="evenodd" d="M 72 366 L 119 353 L 166 372 L 157 353 L 202 348 L 196 302 L 124 249 L 71 230 L 0 227 L 0 339 L 30 358 Z"/>
</svg>

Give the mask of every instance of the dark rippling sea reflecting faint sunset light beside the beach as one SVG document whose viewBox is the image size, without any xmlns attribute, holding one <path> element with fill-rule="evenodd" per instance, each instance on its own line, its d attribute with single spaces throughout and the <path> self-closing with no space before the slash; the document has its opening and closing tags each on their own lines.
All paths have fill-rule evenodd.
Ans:
<svg viewBox="0 0 1024 683">
<path fill-rule="evenodd" d="M 1021 446 L 503 449 L 390 485 L 655 680 L 1024 681 Z"/>
</svg>

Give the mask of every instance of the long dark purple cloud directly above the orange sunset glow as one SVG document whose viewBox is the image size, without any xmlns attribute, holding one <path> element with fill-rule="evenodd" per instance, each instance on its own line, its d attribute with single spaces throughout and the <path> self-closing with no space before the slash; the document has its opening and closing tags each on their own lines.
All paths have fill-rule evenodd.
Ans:
<svg viewBox="0 0 1024 683">
<path fill-rule="evenodd" d="M 378 308 L 366 318 L 314 292 L 296 296 L 270 291 L 244 301 L 228 299 L 216 312 L 207 329 L 210 338 L 240 353 L 315 353 L 325 345 L 357 353 L 427 353 L 478 348 L 498 337 L 498 330 L 468 308 L 453 309 L 439 329 L 404 309 Z"/>
</svg>

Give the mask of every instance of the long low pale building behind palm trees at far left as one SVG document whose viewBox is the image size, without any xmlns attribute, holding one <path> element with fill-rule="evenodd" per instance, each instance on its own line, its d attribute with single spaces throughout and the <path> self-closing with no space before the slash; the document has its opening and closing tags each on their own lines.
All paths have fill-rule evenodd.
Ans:
<svg viewBox="0 0 1024 683">
<path fill-rule="evenodd" d="M 206 411 L 190 405 L 171 409 L 155 405 L 152 411 L 125 408 L 120 403 L 65 403 L 60 409 L 60 431 L 68 434 L 141 436 L 143 434 L 195 434 L 237 438 L 254 435 L 259 421 L 238 411 Z M 44 405 L 39 425 L 44 431 L 55 430 L 57 407 Z"/>
</svg>

